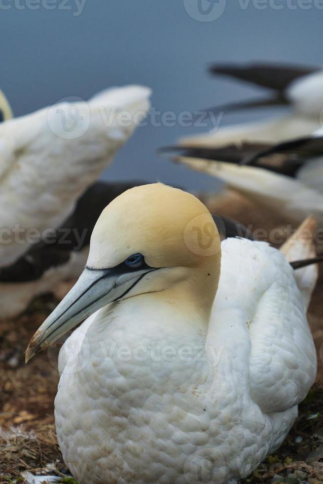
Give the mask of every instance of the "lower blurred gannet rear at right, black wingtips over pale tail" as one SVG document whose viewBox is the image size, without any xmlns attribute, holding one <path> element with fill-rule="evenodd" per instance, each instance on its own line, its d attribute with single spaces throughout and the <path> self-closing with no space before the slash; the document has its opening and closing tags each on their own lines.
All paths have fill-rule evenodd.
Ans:
<svg viewBox="0 0 323 484">
<path fill-rule="evenodd" d="M 177 152 L 175 161 L 223 180 L 290 221 L 313 214 L 323 227 L 322 130 L 276 145 L 238 141 L 216 148 L 187 142 L 168 150 Z"/>
</svg>

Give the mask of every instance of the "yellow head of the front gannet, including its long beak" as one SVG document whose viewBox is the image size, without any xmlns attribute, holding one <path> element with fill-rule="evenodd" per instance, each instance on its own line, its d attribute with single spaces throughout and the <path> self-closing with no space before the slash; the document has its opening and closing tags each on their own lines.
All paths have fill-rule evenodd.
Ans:
<svg viewBox="0 0 323 484">
<path fill-rule="evenodd" d="M 26 360 L 108 303 L 145 293 L 194 301 L 209 317 L 219 271 L 220 238 L 202 202 L 161 183 L 127 190 L 100 215 L 82 275 Z"/>
</svg>

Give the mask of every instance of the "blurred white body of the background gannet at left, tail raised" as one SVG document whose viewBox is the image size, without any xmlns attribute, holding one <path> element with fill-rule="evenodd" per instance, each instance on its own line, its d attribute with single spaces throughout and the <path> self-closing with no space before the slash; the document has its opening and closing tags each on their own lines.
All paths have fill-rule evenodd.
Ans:
<svg viewBox="0 0 323 484">
<path fill-rule="evenodd" d="M 28 251 L 28 229 L 56 229 L 72 213 L 146 115 L 149 95 L 113 87 L 0 124 L 0 267 Z"/>
</svg>

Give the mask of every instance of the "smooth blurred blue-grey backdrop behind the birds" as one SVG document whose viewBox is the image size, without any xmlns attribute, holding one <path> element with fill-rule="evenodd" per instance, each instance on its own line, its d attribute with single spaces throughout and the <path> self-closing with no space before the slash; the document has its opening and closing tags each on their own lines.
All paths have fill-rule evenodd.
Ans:
<svg viewBox="0 0 323 484">
<path fill-rule="evenodd" d="M 207 73 L 212 62 L 322 64 L 323 9 L 317 5 L 323 8 L 323 2 L 80 1 L 0 0 L 0 87 L 15 116 L 66 96 L 87 99 L 108 86 L 129 83 L 150 86 L 152 106 L 178 115 L 262 94 L 238 82 L 212 78 Z M 205 11 L 224 6 L 225 10 L 215 20 L 200 21 L 206 16 L 196 10 L 199 2 Z M 221 125 L 265 116 L 266 111 L 227 115 Z M 191 190 L 215 188 L 215 179 L 156 155 L 159 146 L 206 130 L 178 124 L 141 127 L 103 176 L 159 179 Z"/>
</svg>

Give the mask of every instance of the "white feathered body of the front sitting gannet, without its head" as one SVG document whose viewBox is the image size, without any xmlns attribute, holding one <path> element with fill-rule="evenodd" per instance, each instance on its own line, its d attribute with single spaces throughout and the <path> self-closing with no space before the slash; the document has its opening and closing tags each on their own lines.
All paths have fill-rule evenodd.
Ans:
<svg viewBox="0 0 323 484">
<path fill-rule="evenodd" d="M 292 268 L 264 242 L 222 242 L 209 330 L 140 298 L 76 330 L 55 399 L 66 464 L 87 484 L 193 483 L 199 467 L 207 482 L 247 477 L 283 442 L 316 374 Z M 210 475 L 205 458 L 220 463 Z"/>
</svg>

